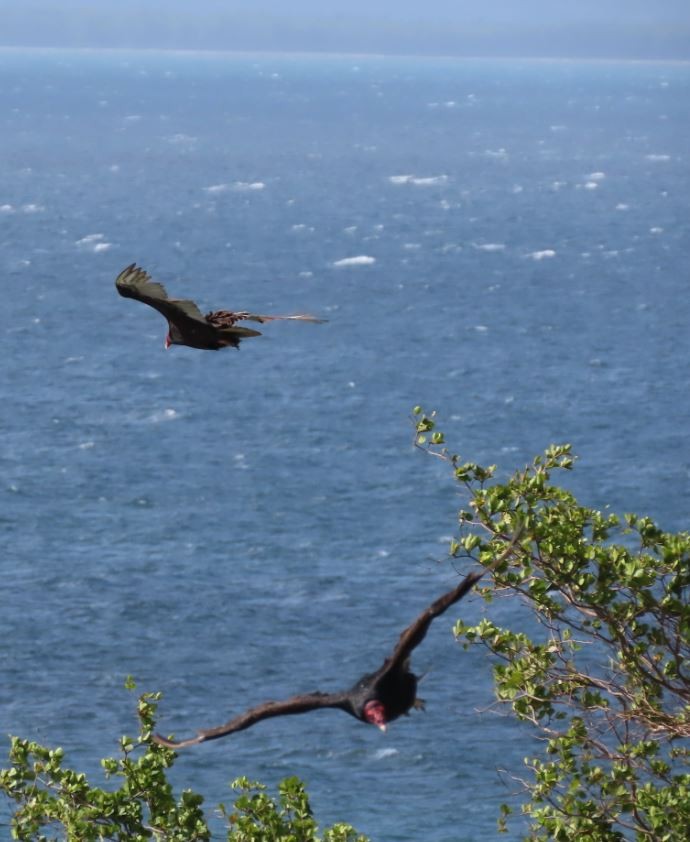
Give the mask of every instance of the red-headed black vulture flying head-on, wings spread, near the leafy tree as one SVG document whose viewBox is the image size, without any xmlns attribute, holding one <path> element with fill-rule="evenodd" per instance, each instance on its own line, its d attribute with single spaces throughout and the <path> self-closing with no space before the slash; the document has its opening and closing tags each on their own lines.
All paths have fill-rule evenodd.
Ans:
<svg viewBox="0 0 690 842">
<path fill-rule="evenodd" d="M 389 722 L 406 714 L 411 708 L 423 708 L 424 703 L 417 698 L 417 676 L 410 671 L 410 656 L 424 640 L 432 621 L 443 614 L 451 605 L 458 602 L 476 584 L 482 576 L 494 570 L 513 550 L 518 539 L 516 535 L 508 547 L 484 570 L 468 573 L 453 590 L 443 594 L 431 603 L 400 635 L 393 653 L 386 658 L 376 672 L 362 676 L 349 690 L 339 693 L 305 693 L 291 696 L 282 702 L 264 702 L 219 725 L 199 731 L 196 737 L 188 740 L 170 740 L 160 734 L 153 739 L 166 748 L 184 748 L 185 746 L 217 740 L 236 731 L 251 728 L 262 719 L 272 716 L 287 716 L 295 713 L 308 713 L 318 708 L 338 708 L 351 716 L 376 725 L 382 731 Z"/>
</svg>

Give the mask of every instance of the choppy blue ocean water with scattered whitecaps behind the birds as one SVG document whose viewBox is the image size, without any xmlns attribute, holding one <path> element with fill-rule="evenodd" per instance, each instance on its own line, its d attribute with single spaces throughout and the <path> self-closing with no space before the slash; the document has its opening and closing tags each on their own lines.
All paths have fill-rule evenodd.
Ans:
<svg viewBox="0 0 690 842">
<path fill-rule="evenodd" d="M 583 502 L 687 528 L 689 88 L 680 64 L 0 51 L 0 731 L 97 775 L 136 727 L 127 674 L 187 735 L 376 668 L 457 581 L 463 499 L 411 446 L 417 403 L 467 459 L 570 441 Z M 202 308 L 330 321 L 166 353 L 115 293 L 132 261 Z M 453 642 L 487 610 L 524 608 L 438 620 L 427 711 L 386 736 L 278 719 L 176 782 L 214 805 L 294 773 L 377 842 L 491 838 L 536 745 Z"/>
</svg>

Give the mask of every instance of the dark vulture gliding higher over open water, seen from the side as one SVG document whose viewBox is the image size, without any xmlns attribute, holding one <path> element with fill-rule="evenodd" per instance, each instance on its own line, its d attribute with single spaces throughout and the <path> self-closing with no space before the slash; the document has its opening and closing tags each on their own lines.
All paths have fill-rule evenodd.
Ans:
<svg viewBox="0 0 690 842">
<path fill-rule="evenodd" d="M 168 298 L 163 284 L 152 281 L 147 272 L 132 263 L 115 279 L 115 286 L 125 298 L 143 301 L 162 313 L 168 320 L 165 347 L 189 345 L 205 351 L 221 348 L 239 348 L 240 341 L 249 336 L 261 336 L 258 330 L 239 327 L 237 322 L 271 322 L 275 319 L 293 319 L 302 322 L 323 322 L 313 316 L 259 316 L 256 313 L 214 310 L 205 316 L 193 301 L 185 298 Z"/>
</svg>

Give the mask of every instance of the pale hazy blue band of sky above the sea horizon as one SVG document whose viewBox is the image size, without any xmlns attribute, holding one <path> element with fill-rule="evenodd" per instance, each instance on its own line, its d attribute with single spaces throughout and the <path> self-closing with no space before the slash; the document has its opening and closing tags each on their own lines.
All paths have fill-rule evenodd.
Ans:
<svg viewBox="0 0 690 842">
<path fill-rule="evenodd" d="M 690 59 L 690 0 L 0 0 L 0 44 Z"/>
</svg>

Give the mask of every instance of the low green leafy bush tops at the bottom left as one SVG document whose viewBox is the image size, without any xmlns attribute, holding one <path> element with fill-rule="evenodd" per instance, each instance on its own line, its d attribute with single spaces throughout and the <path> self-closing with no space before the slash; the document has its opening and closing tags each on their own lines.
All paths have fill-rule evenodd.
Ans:
<svg viewBox="0 0 690 842">
<path fill-rule="evenodd" d="M 101 761 L 106 779 L 119 780 L 117 788 L 92 786 L 83 773 L 64 768 L 62 749 L 12 738 L 11 765 L 0 770 L 0 791 L 18 805 L 12 838 L 26 842 L 57 838 L 70 842 L 210 840 L 203 797 L 185 790 L 175 798 L 166 773 L 176 755 L 151 741 L 159 699 L 157 693 L 140 697 L 138 738 L 123 737 L 121 756 Z M 229 842 L 366 842 L 345 824 L 336 824 L 318 836 L 309 799 L 297 778 L 279 785 L 278 801 L 246 778 L 232 786 L 240 793 L 234 808 L 220 808 Z M 59 836 L 49 835 L 58 831 Z"/>
</svg>

